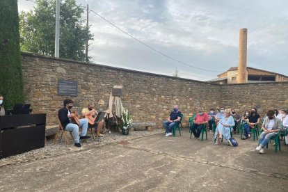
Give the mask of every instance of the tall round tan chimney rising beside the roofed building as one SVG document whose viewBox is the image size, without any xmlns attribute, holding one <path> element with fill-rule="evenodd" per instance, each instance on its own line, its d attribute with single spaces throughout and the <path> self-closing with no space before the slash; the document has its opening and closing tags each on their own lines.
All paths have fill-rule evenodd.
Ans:
<svg viewBox="0 0 288 192">
<path fill-rule="evenodd" d="M 238 55 L 238 83 L 247 83 L 247 29 L 240 29 Z"/>
</svg>

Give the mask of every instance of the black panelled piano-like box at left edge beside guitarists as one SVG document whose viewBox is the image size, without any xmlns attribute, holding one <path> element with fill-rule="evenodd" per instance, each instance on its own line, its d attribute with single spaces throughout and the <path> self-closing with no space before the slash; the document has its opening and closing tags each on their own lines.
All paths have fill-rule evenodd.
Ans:
<svg viewBox="0 0 288 192">
<path fill-rule="evenodd" d="M 45 147 L 46 114 L 0 116 L 0 159 Z"/>
</svg>

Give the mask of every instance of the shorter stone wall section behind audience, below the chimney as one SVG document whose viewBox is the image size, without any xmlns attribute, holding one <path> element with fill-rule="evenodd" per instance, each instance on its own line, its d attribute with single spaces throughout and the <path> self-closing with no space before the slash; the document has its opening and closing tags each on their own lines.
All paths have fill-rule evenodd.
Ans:
<svg viewBox="0 0 288 192">
<path fill-rule="evenodd" d="M 244 111 L 256 107 L 261 117 L 269 109 L 288 109 L 288 82 L 221 85 L 221 104 L 227 109 Z"/>
</svg>

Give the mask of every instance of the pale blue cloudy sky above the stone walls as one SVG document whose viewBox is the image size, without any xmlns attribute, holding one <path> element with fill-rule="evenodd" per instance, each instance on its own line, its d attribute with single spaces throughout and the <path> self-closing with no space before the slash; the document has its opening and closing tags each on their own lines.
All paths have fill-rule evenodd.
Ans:
<svg viewBox="0 0 288 192">
<path fill-rule="evenodd" d="M 76 1 L 152 47 L 90 11 L 92 63 L 207 81 L 237 67 L 239 30 L 246 28 L 248 67 L 288 76 L 287 0 Z M 18 0 L 19 11 L 33 6 Z"/>
</svg>

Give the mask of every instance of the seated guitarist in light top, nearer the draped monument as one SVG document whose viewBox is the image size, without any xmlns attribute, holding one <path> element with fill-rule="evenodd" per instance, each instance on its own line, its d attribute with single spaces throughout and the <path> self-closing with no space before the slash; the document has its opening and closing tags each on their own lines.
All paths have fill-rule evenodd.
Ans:
<svg viewBox="0 0 288 192">
<path fill-rule="evenodd" d="M 97 111 L 95 110 L 93 102 L 90 102 L 88 104 L 88 108 L 84 108 L 82 110 L 82 115 L 85 116 L 86 119 L 88 119 L 89 126 L 97 125 L 97 128 L 95 127 L 95 132 L 97 133 L 98 137 L 102 137 L 103 135 L 100 134 L 100 131 L 102 130 L 104 120 L 99 118 L 100 114 L 97 113 Z"/>
</svg>

